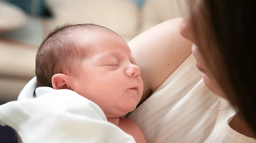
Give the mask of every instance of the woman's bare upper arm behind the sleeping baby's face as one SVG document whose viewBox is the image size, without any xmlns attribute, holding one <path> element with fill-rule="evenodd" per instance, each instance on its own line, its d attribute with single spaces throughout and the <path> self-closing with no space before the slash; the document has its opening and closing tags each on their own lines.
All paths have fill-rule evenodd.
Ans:
<svg viewBox="0 0 256 143">
<path fill-rule="evenodd" d="M 181 21 L 182 18 L 165 21 L 128 42 L 144 82 L 141 101 L 154 92 L 191 54 L 192 43 L 179 32 Z"/>
</svg>

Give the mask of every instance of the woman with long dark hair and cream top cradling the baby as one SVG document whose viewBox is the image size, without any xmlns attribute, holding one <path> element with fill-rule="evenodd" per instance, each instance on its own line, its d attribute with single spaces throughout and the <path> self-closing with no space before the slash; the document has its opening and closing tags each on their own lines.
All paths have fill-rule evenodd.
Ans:
<svg viewBox="0 0 256 143">
<path fill-rule="evenodd" d="M 147 93 L 153 92 L 153 94 L 129 117 L 139 124 L 149 142 L 256 142 L 256 76 L 254 74 L 256 23 L 253 1 L 200 0 L 197 3 L 193 1 L 190 5 L 191 16 L 181 22 L 180 32 L 194 43 L 192 52 L 196 66 L 203 74 L 204 83 L 190 79 L 198 75 L 194 73 L 193 67 L 187 68 L 187 65 L 193 62 L 188 60 L 191 57 L 186 59 L 184 56 L 188 52 L 184 55 L 179 54 L 182 50 L 187 51 L 186 46 L 167 44 L 176 45 L 178 48 L 175 50 L 173 47 L 167 49 L 168 46 L 162 44 L 168 43 L 167 41 L 175 42 L 172 35 L 168 36 L 169 39 L 163 38 L 163 42 L 158 40 L 158 44 L 148 40 L 150 39 L 148 37 L 155 37 L 150 35 L 157 33 L 156 31 L 139 35 L 137 40 L 135 38 L 129 44 L 134 49 L 133 53 L 137 57 L 135 59 L 141 67 L 142 79 L 145 81 L 144 99 L 148 97 Z M 162 26 L 158 27 L 158 30 L 164 30 L 164 24 L 160 25 Z M 173 27 L 173 25 L 175 23 L 169 21 L 169 26 Z M 153 62 L 142 54 L 136 55 L 143 47 L 138 45 L 146 43 L 142 40 L 138 44 L 139 40 L 146 36 L 147 42 L 150 41 L 148 47 L 159 48 L 153 52 L 150 48 L 145 55 L 160 51 L 157 55 L 161 56 L 159 59 L 163 61 Z M 182 40 L 176 41 L 188 43 Z M 173 57 L 166 53 L 178 56 Z M 169 56 L 167 62 L 165 62 L 166 56 Z M 166 65 L 169 63 L 174 63 L 176 67 L 175 63 L 180 65 L 183 59 L 186 61 L 178 69 L 167 69 Z M 156 65 L 152 66 L 152 63 Z M 157 70 L 150 67 L 157 67 Z M 151 75 L 143 69 L 154 74 Z M 184 69 L 186 72 L 182 73 Z M 172 75 L 168 77 L 168 74 Z M 143 75 L 147 76 L 143 77 Z M 158 78 L 153 75 L 160 76 Z M 176 78 L 177 76 L 179 78 Z M 166 80 L 163 80 L 164 78 Z M 147 82 L 148 79 L 150 82 Z M 192 84 L 193 81 L 197 84 L 192 87 L 186 83 Z M 180 87 L 176 88 L 189 89 L 189 91 L 185 94 L 176 91 L 175 84 L 180 84 Z M 200 89 L 202 84 L 214 94 L 205 93 Z M 199 96 L 203 100 L 200 100 Z M 152 119 L 154 117 L 157 119 Z"/>
</svg>

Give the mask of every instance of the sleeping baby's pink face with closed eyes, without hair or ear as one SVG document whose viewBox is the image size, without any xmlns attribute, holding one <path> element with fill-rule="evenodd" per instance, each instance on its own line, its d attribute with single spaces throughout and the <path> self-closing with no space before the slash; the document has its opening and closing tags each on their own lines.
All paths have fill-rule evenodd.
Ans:
<svg viewBox="0 0 256 143">
<path fill-rule="evenodd" d="M 82 62 L 72 89 L 94 101 L 106 117 L 133 111 L 143 91 L 140 68 L 126 42 L 114 33 L 92 33 L 93 52 Z"/>
</svg>

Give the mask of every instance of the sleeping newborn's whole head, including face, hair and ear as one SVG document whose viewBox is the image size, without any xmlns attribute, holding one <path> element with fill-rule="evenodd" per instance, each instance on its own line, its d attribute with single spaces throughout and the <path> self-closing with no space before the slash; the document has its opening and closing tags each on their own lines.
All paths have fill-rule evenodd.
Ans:
<svg viewBox="0 0 256 143">
<path fill-rule="evenodd" d="M 123 38 L 94 24 L 57 28 L 36 55 L 38 86 L 70 89 L 106 117 L 133 111 L 143 91 L 140 68 Z"/>
</svg>

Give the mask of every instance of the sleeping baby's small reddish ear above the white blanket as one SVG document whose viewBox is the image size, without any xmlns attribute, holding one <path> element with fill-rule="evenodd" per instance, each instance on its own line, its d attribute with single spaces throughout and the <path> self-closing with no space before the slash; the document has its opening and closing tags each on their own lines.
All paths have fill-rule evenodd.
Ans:
<svg viewBox="0 0 256 143">
<path fill-rule="evenodd" d="M 51 78 L 54 89 L 70 89 L 70 76 L 63 73 L 57 73 Z"/>
</svg>

